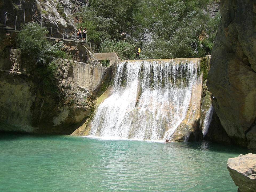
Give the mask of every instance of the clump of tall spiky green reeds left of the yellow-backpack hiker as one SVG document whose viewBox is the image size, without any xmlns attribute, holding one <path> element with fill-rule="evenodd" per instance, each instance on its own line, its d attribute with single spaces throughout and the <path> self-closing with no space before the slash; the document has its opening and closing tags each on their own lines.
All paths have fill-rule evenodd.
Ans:
<svg viewBox="0 0 256 192">
<path fill-rule="evenodd" d="M 122 41 L 122 40 L 108 40 L 105 39 L 100 47 L 100 53 L 111 53 L 115 52 L 117 56 L 122 60 L 127 60 L 133 58 L 135 52 L 135 44 L 131 41 Z"/>
</svg>

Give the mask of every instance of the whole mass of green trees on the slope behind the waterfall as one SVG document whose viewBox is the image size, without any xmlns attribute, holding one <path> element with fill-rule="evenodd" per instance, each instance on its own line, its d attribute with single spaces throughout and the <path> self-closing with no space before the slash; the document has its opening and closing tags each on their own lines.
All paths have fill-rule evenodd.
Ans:
<svg viewBox="0 0 256 192">
<path fill-rule="evenodd" d="M 89 0 L 75 16 L 100 47 L 104 39 L 124 39 L 142 47 L 143 58 L 203 57 L 211 52 L 220 15 L 213 0 Z"/>
</svg>

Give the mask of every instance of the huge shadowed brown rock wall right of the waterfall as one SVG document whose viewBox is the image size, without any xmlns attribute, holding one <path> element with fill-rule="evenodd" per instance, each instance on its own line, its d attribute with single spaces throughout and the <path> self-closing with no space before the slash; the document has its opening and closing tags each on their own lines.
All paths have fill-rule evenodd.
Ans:
<svg viewBox="0 0 256 192">
<path fill-rule="evenodd" d="M 207 87 L 229 137 L 256 149 L 256 4 L 226 0 L 220 2 L 220 10 Z"/>
</svg>

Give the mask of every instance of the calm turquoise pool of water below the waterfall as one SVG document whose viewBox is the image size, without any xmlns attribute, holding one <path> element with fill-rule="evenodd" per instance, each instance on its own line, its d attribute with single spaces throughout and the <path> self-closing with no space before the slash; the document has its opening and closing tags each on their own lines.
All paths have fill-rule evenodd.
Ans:
<svg viewBox="0 0 256 192">
<path fill-rule="evenodd" d="M 249 151 L 206 142 L 0 135 L 3 192 L 235 192 L 229 157 Z"/>
</svg>

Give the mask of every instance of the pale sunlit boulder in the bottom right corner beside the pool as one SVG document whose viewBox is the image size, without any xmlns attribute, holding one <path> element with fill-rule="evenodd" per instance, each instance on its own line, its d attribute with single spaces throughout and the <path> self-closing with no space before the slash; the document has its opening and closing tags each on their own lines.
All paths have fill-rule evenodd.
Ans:
<svg viewBox="0 0 256 192">
<path fill-rule="evenodd" d="M 227 160 L 227 169 L 240 192 L 256 191 L 256 154 L 248 153 Z"/>
</svg>

